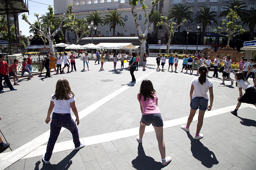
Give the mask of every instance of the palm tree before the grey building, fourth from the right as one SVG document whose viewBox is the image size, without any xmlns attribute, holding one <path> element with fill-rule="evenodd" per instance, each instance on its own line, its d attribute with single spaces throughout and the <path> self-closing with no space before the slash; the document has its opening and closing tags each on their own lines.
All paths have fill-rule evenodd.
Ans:
<svg viewBox="0 0 256 170">
<path fill-rule="evenodd" d="M 192 22 L 192 11 L 189 11 L 189 7 L 187 7 L 187 5 L 183 5 L 179 3 L 178 5 L 174 5 L 174 7 L 172 7 L 170 9 L 170 11 L 168 11 L 168 20 L 172 20 L 172 18 L 174 19 L 174 21 L 177 19 L 178 20 L 178 25 L 180 25 L 182 23 L 182 19 L 187 19 L 188 22 L 189 20 Z M 178 28 L 178 32 L 180 32 L 180 28 Z"/>
</svg>

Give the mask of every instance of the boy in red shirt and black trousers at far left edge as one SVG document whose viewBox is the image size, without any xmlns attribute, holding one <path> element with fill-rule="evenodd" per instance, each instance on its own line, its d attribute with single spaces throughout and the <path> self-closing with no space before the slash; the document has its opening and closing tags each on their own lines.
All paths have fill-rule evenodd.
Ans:
<svg viewBox="0 0 256 170">
<path fill-rule="evenodd" d="M 10 82 L 8 67 L 9 65 L 4 61 L 4 55 L 0 55 L 0 81 L 1 81 L 0 93 L 4 92 L 4 87 L 2 85 L 3 78 L 4 78 L 4 81 L 6 82 L 6 85 L 9 87 L 11 91 L 17 90 L 12 87 L 12 84 Z"/>
</svg>

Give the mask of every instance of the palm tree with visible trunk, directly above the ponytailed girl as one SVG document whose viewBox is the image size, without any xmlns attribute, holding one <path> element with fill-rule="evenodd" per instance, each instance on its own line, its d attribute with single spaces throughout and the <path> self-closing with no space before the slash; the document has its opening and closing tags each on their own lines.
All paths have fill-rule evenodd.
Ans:
<svg viewBox="0 0 256 170">
<path fill-rule="evenodd" d="M 217 12 L 215 11 L 211 11 L 211 8 L 205 8 L 202 10 L 200 9 L 199 13 L 197 13 L 195 15 L 195 20 L 196 22 L 199 24 L 199 23 L 202 23 L 203 24 L 203 35 L 202 35 L 202 40 L 201 40 L 201 44 L 203 44 L 203 41 L 204 41 L 204 33 L 205 33 L 205 29 L 206 29 L 206 26 L 207 24 L 209 25 L 212 25 L 212 21 L 216 24 L 218 24 L 218 21 L 217 21 L 217 15 L 216 15 Z"/>
</svg>

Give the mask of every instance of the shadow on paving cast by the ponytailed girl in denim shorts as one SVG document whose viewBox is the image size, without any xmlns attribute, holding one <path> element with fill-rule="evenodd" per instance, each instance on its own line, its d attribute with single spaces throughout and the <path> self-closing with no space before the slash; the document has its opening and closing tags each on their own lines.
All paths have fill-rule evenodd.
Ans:
<svg viewBox="0 0 256 170">
<path fill-rule="evenodd" d="M 202 165 L 207 168 L 211 168 L 213 165 L 217 165 L 219 161 L 212 151 L 205 147 L 199 140 L 195 140 L 189 132 L 187 132 L 188 138 L 191 141 L 191 152 L 194 158 L 199 160 Z"/>
</svg>

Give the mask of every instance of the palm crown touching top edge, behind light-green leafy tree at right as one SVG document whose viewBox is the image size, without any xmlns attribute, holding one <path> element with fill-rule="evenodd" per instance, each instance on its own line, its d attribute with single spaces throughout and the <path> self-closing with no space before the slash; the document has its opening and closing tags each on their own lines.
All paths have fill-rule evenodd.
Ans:
<svg viewBox="0 0 256 170">
<path fill-rule="evenodd" d="M 220 12 L 219 18 L 226 17 L 228 15 L 229 9 L 235 11 L 240 17 L 244 16 L 246 10 L 243 8 L 247 8 L 247 6 L 244 4 L 245 2 L 241 2 L 240 0 L 233 0 L 233 2 L 228 2 L 228 5 L 223 8 L 225 11 Z"/>
</svg>

